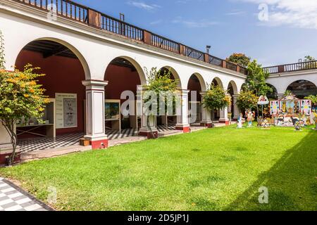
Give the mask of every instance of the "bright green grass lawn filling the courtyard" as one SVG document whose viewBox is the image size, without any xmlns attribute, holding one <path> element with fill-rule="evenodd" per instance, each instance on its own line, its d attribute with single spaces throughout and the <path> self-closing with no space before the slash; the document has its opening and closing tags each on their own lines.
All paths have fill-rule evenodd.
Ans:
<svg viewBox="0 0 317 225">
<path fill-rule="evenodd" d="M 56 210 L 317 210 L 317 131 L 224 127 L 0 169 Z M 259 204 L 266 186 L 269 203 Z"/>
</svg>

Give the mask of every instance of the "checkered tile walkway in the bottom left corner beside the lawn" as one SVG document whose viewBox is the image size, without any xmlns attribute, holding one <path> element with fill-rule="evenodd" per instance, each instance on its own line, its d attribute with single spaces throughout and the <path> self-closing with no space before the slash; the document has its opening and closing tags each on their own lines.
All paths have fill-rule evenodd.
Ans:
<svg viewBox="0 0 317 225">
<path fill-rule="evenodd" d="M 52 211 L 52 209 L 0 177 L 0 211 Z"/>
</svg>

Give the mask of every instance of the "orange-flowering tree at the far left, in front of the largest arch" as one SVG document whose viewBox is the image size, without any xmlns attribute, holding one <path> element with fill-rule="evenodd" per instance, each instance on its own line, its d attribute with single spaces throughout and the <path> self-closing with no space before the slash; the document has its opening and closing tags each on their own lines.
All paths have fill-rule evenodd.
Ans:
<svg viewBox="0 0 317 225">
<path fill-rule="evenodd" d="M 44 96 L 42 85 L 37 84 L 37 77 L 32 65 L 25 65 L 23 72 L 0 70 L 0 122 L 11 138 L 13 153 L 8 164 L 12 165 L 17 147 L 15 124 L 22 117 L 35 118 L 42 122 L 44 108 L 49 99 Z"/>
</svg>

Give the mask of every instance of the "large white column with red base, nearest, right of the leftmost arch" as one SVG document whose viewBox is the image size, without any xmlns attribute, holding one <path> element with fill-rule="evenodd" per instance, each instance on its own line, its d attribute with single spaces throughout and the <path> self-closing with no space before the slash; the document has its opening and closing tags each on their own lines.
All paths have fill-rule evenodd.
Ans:
<svg viewBox="0 0 317 225">
<path fill-rule="evenodd" d="M 105 134 L 104 87 L 108 82 L 85 80 L 86 86 L 86 135 L 93 149 L 107 148 L 108 138 Z"/>
</svg>

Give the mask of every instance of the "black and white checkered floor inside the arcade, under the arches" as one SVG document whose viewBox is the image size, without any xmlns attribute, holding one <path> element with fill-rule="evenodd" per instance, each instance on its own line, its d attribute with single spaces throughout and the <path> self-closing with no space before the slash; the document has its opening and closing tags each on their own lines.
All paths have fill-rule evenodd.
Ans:
<svg viewBox="0 0 317 225">
<path fill-rule="evenodd" d="M 159 133 L 164 131 L 171 131 L 175 129 L 175 124 L 159 125 L 157 127 Z M 84 133 L 62 134 L 52 138 L 35 138 L 35 139 L 21 139 L 18 141 L 18 146 L 23 152 L 31 152 L 36 150 L 46 150 L 52 148 L 64 148 L 69 146 L 79 146 L 79 140 L 84 136 Z M 106 130 L 106 135 L 109 140 L 123 139 L 130 136 L 137 135 L 137 129 L 123 129 L 121 131 Z"/>
</svg>

